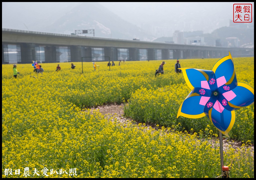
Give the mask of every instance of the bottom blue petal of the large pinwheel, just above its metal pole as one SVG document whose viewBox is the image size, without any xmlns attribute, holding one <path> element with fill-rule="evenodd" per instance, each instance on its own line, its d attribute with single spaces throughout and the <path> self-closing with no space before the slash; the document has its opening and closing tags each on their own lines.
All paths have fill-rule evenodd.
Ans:
<svg viewBox="0 0 256 180">
<path fill-rule="evenodd" d="M 231 131 L 236 120 L 235 111 L 223 109 L 223 111 L 220 113 L 215 108 L 211 108 L 207 114 L 207 117 L 218 129 L 218 131 L 229 137 L 228 133 Z"/>
</svg>

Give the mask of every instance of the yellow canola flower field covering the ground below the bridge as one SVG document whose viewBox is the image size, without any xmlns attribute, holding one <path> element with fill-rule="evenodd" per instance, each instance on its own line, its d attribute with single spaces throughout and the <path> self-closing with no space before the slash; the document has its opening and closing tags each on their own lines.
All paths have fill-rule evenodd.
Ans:
<svg viewBox="0 0 256 180">
<path fill-rule="evenodd" d="M 186 59 L 180 60 L 180 64 L 211 70 L 217 60 Z M 254 58 L 233 60 L 238 81 L 254 86 Z M 31 64 L 17 64 L 20 72 L 17 79 L 13 78 L 12 65 L 2 65 L 2 177 L 214 178 L 221 175 L 216 132 L 202 124 L 204 131 L 189 133 L 184 131 L 182 122 L 173 123 L 170 114 L 177 115 L 177 108 L 189 89 L 182 74 L 174 71 L 176 60 L 165 62 L 165 73 L 157 77 L 155 70 L 161 63 L 157 60 L 126 61 L 121 66 L 111 66 L 110 70 L 107 62 L 95 62 L 98 65 L 95 71 L 92 62 L 83 62 L 83 73 L 81 62 L 73 62 L 75 69 L 71 69 L 69 62 L 42 63 L 42 74 L 34 73 Z M 57 64 L 61 67 L 59 72 L 55 71 Z M 158 102 L 160 97 L 164 98 Z M 148 120 L 153 119 L 157 108 L 168 111 L 165 115 L 169 119 L 164 114 L 161 119 L 166 127 L 148 128 L 144 124 L 147 119 L 138 125 L 123 124 L 88 109 L 123 102 L 127 104 L 126 111 L 141 110 Z M 254 134 L 254 122 L 246 124 L 248 117 L 254 118 L 252 107 L 240 112 L 244 124 L 240 122 L 237 129 L 247 128 L 247 132 Z M 225 150 L 224 164 L 229 166 L 234 161 L 231 177 L 254 177 L 251 142 L 247 140 L 240 148 L 230 146 Z"/>
</svg>

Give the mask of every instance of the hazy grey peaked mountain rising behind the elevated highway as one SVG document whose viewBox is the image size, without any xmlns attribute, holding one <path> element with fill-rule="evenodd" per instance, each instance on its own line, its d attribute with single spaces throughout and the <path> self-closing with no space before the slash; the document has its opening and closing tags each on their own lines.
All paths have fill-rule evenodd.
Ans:
<svg viewBox="0 0 256 180">
<path fill-rule="evenodd" d="M 52 24 L 44 28 L 46 31 L 55 33 L 71 34 L 75 30 L 94 29 L 95 36 L 141 40 L 151 40 L 154 37 L 145 33 L 141 28 L 124 21 L 99 3 L 81 3 Z M 83 34 L 93 36 L 92 34 Z"/>
</svg>

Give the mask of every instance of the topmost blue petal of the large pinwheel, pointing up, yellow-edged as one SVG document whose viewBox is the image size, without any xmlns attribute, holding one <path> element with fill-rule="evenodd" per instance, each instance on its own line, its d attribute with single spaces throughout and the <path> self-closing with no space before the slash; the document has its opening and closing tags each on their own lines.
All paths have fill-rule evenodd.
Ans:
<svg viewBox="0 0 256 180">
<path fill-rule="evenodd" d="M 237 82 L 234 63 L 230 52 L 228 56 L 221 58 L 215 63 L 212 71 L 215 73 L 218 87 L 224 84 L 231 84 Z"/>
</svg>

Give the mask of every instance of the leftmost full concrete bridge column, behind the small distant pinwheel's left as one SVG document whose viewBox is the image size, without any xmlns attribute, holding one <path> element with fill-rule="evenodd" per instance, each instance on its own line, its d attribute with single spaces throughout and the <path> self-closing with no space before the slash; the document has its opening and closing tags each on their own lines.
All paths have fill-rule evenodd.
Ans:
<svg viewBox="0 0 256 180">
<path fill-rule="evenodd" d="M 36 46 L 31 43 L 21 43 L 20 44 L 20 52 L 21 52 L 21 62 L 23 64 L 33 63 L 32 61 L 36 61 Z"/>
</svg>

